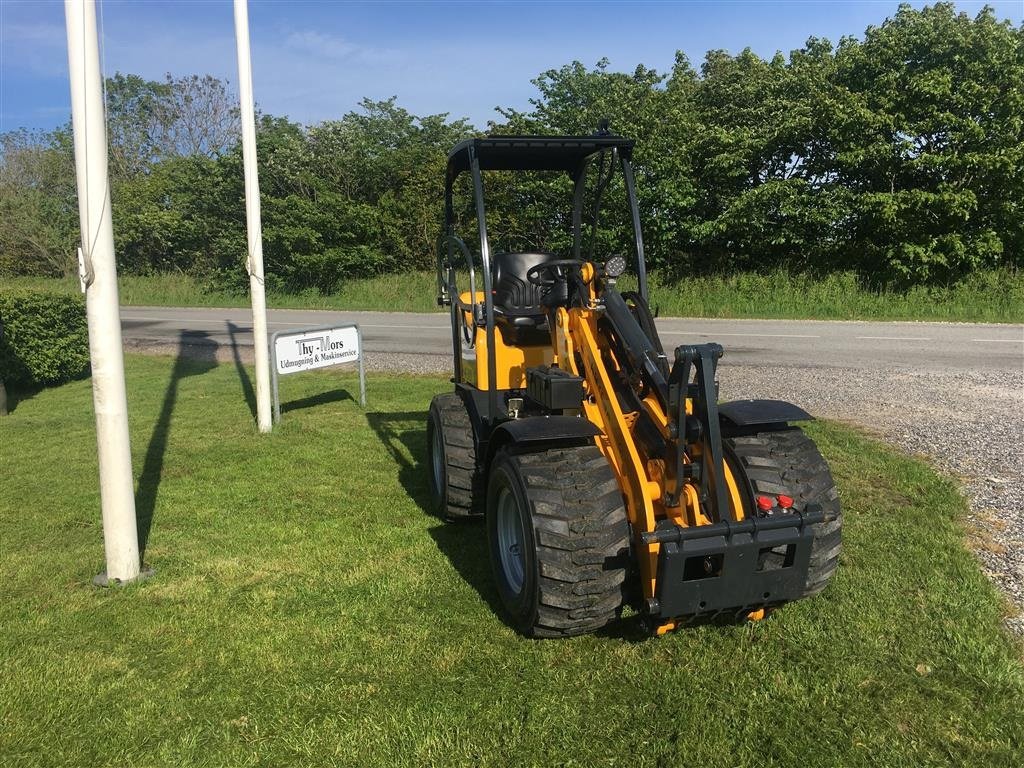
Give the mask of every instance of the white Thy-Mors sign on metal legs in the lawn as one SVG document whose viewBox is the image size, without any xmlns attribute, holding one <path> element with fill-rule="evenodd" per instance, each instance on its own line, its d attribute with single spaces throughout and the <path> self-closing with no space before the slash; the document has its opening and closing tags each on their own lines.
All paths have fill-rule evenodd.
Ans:
<svg viewBox="0 0 1024 768">
<path fill-rule="evenodd" d="M 273 356 L 273 415 L 281 420 L 278 377 L 317 368 L 359 365 L 359 402 L 367 404 L 366 375 L 362 370 L 362 335 L 356 325 L 303 328 L 279 331 L 270 340 Z"/>
</svg>

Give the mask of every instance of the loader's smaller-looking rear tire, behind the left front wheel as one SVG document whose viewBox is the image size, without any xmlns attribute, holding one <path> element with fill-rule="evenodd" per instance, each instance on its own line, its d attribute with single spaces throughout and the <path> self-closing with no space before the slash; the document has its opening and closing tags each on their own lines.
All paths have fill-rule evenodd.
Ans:
<svg viewBox="0 0 1024 768">
<path fill-rule="evenodd" d="M 445 520 L 481 514 L 483 479 L 473 423 L 458 392 L 435 395 L 427 417 L 427 467 L 434 509 Z"/>
</svg>

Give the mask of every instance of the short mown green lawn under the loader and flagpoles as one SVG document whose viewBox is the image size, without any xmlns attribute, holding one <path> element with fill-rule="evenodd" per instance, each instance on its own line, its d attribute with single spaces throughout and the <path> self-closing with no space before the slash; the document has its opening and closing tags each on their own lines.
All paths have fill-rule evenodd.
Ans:
<svg viewBox="0 0 1024 768">
<path fill-rule="evenodd" d="M 0 765 L 1019 766 L 1020 647 L 924 464 L 810 427 L 846 511 L 819 597 L 644 639 L 506 627 L 479 525 L 424 510 L 440 378 L 128 358 L 148 581 L 98 590 L 88 381 L 0 419 Z M 315 407 L 310 407 L 315 403 Z"/>
</svg>

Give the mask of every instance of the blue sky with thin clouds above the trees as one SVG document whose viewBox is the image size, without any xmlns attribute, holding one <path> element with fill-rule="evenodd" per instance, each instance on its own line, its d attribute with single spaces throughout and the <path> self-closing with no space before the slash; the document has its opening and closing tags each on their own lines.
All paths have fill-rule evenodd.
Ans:
<svg viewBox="0 0 1024 768">
<path fill-rule="evenodd" d="M 921 3 L 913 3 L 921 5 Z M 1024 0 L 990 2 L 1022 23 Z M 677 50 L 788 52 L 812 35 L 861 35 L 895 0 L 802 2 L 280 2 L 250 4 L 260 108 L 302 123 L 337 118 L 364 96 L 483 127 L 494 108 L 526 108 L 530 79 L 573 59 L 668 71 Z M 971 14 L 983 2 L 959 2 Z M 103 0 L 104 70 L 161 79 L 237 79 L 230 0 Z M 0 0 L 0 131 L 52 128 L 71 112 L 62 2 Z"/>
</svg>

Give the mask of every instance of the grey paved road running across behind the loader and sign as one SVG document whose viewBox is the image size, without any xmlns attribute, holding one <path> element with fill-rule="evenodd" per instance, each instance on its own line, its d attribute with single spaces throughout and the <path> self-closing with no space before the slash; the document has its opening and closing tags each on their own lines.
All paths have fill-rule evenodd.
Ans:
<svg viewBox="0 0 1024 768">
<path fill-rule="evenodd" d="M 252 346 L 245 309 L 125 307 L 125 338 L 135 344 L 178 342 L 182 335 L 220 345 Z M 451 354 L 444 314 L 276 309 L 270 332 L 331 323 L 358 323 L 367 351 Z M 836 323 L 658 318 L 666 347 L 718 341 L 723 366 L 890 368 L 916 371 L 1020 371 L 1024 326 L 949 323 Z"/>
</svg>

